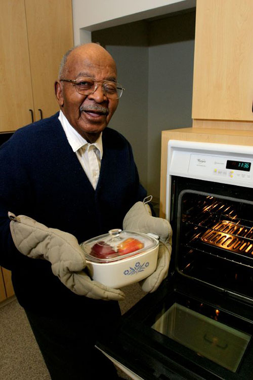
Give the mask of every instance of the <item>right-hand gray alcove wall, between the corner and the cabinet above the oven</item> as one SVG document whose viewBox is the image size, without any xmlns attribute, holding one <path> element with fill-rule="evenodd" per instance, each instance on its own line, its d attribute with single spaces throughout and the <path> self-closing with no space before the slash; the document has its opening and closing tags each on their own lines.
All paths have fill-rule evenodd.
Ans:
<svg viewBox="0 0 253 380">
<path fill-rule="evenodd" d="M 148 191 L 160 194 L 161 131 L 192 126 L 195 12 L 150 22 Z"/>
</svg>

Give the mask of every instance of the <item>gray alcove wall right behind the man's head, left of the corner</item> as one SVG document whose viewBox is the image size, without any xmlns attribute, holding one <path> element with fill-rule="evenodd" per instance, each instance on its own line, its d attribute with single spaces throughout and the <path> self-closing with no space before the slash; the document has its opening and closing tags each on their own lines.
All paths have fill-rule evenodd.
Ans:
<svg viewBox="0 0 253 380">
<path fill-rule="evenodd" d="M 125 88 L 110 127 L 131 143 L 141 182 L 148 187 L 148 34 L 143 21 L 92 33 L 117 64 L 118 81 Z"/>
</svg>

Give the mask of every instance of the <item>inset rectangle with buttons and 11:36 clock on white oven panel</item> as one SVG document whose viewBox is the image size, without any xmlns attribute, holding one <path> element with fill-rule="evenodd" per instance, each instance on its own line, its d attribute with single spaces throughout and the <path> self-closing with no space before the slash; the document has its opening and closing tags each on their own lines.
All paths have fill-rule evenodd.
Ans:
<svg viewBox="0 0 253 380">
<path fill-rule="evenodd" d="M 245 161 L 234 157 L 191 154 L 188 172 L 193 175 L 207 175 L 212 177 L 213 180 L 227 178 L 236 180 L 236 182 L 250 182 L 252 165 L 251 160 Z"/>
</svg>

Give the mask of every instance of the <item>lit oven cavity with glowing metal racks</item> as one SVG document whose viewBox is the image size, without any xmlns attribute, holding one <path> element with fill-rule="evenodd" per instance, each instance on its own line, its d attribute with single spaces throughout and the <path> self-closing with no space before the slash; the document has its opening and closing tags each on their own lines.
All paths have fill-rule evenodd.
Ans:
<svg viewBox="0 0 253 380">
<path fill-rule="evenodd" d="M 177 206 L 177 271 L 252 299 L 253 203 L 183 190 Z"/>
</svg>

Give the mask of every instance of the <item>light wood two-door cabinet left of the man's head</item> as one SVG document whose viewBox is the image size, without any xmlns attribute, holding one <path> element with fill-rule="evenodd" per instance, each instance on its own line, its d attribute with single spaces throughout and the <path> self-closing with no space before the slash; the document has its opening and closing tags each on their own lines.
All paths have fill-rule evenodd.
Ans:
<svg viewBox="0 0 253 380">
<path fill-rule="evenodd" d="M 73 46 L 71 0 L 1 0 L 0 132 L 49 117 L 59 63 Z"/>
</svg>

